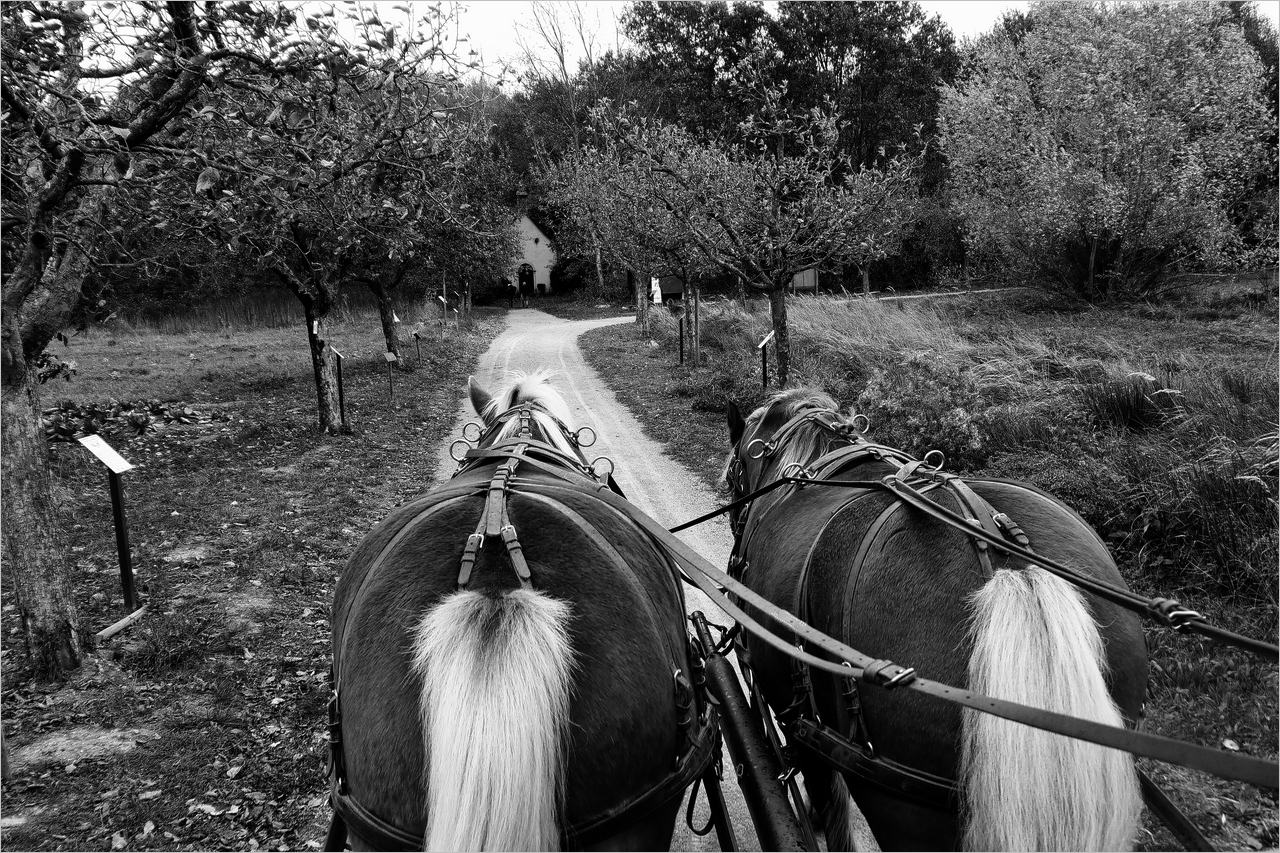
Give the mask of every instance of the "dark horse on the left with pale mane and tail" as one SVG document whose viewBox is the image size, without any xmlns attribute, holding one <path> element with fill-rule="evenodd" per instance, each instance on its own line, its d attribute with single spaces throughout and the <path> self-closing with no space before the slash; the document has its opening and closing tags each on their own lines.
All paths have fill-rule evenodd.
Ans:
<svg viewBox="0 0 1280 853">
<path fill-rule="evenodd" d="M 544 375 L 471 401 L 479 446 L 338 583 L 335 809 L 357 849 L 666 849 L 718 743 L 678 574 Z"/>
</svg>

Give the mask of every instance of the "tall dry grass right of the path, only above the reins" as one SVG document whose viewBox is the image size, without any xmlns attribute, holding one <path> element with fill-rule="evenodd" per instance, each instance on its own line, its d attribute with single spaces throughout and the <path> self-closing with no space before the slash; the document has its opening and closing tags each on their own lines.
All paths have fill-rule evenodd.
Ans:
<svg viewBox="0 0 1280 853">
<path fill-rule="evenodd" d="M 1240 310 L 1270 311 L 1274 323 L 1274 305 Z M 1274 626 L 1274 351 L 1206 355 L 1197 336 L 1220 328 L 1171 339 L 1179 327 L 1132 314 L 1117 314 L 1112 330 L 1096 314 L 1029 321 L 1007 307 L 923 300 L 805 297 L 788 313 L 792 383 L 867 414 L 877 441 L 942 450 L 952 469 L 1029 479 L 1080 511 L 1148 581 L 1256 602 Z M 701 328 L 704 364 L 667 391 L 703 410 L 759 403 L 755 343 L 768 310 L 708 301 Z M 655 314 L 655 339 L 673 343 L 676 333 Z M 1171 341 L 1184 348 L 1170 351 Z"/>
</svg>

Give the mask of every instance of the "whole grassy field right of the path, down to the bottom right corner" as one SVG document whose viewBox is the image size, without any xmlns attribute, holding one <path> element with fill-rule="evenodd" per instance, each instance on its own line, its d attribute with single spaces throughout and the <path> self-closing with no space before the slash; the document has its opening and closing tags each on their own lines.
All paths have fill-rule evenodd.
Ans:
<svg viewBox="0 0 1280 853">
<path fill-rule="evenodd" d="M 676 323 L 581 339 L 620 398 L 708 483 L 728 450 L 724 405 L 759 405 L 764 304 L 704 305 L 704 364 L 680 366 Z M 797 384 L 872 420 L 872 438 L 948 467 L 1053 492 L 1107 539 L 1132 587 L 1276 640 L 1274 278 L 1184 301 L 1078 309 L 1041 295 L 791 304 Z M 956 412 L 960 412 L 959 415 Z M 1148 729 L 1276 757 L 1277 670 L 1151 625 Z M 1276 798 L 1143 762 L 1222 849 L 1275 847 Z M 1148 821 L 1146 849 L 1176 849 Z"/>
</svg>

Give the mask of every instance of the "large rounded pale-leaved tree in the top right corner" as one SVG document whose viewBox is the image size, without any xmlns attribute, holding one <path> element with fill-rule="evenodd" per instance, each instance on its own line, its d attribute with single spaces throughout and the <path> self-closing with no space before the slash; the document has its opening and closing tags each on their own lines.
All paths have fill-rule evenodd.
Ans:
<svg viewBox="0 0 1280 853">
<path fill-rule="evenodd" d="M 1258 59 L 1222 6 L 1033 4 L 947 88 L 942 143 L 968 243 L 1089 300 L 1228 263 L 1265 158 Z"/>
</svg>

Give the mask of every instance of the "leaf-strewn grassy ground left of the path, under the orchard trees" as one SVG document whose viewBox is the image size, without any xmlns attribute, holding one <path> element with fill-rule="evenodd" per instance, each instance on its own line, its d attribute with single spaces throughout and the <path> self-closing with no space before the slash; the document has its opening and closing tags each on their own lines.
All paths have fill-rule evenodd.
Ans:
<svg viewBox="0 0 1280 853">
<path fill-rule="evenodd" d="M 124 475 L 141 622 L 67 685 L 31 681 L 4 613 L 6 849 L 316 849 L 329 808 L 329 606 L 360 539 L 434 479 L 463 382 L 503 311 L 403 345 L 393 377 L 375 315 L 332 330 L 352 435 L 316 428 L 301 327 L 174 334 L 96 329 L 55 345 L 77 375 L 45 405 L 92 410 Z M 212 327 L 212 330 L 210 329 Z M 110 401 L 157 401 L 138 434 Z M 70 403 L 60 406 L 60 403 Z M 124 616 L 100 465 L 51 444 L 82 626 Z"/>
</svg>

